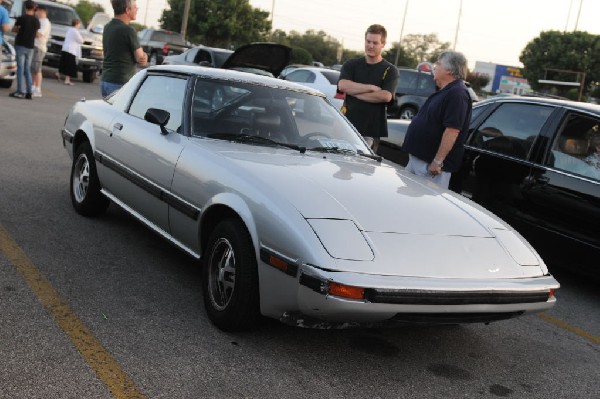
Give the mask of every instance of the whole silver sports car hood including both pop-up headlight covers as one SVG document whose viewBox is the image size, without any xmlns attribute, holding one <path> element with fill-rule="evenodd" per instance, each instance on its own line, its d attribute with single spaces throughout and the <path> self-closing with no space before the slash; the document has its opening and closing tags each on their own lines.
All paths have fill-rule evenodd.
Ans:
<svg viewBox="0 0 600 399">
<path fill-rule="evenodd" d="M 543 261 L 509 225 L 396 165 L 359 156 L 209 145 L 228 158 L 238 178 L 304 217 L 335 259 L 327 264 L 332 270 L 452 278 L 544 272 Z"/>
</svg>

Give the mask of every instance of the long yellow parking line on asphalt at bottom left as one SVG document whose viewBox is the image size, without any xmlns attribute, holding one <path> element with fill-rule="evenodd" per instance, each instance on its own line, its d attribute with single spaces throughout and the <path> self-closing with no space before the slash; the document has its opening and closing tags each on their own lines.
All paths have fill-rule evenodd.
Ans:
<svg viewBox="0 0 600 399">
<path fill-rule="evenodd" d="M 0 225 L 0 252 L 21 273 L 42 305 L 63 329 L 115 398 L 145 398 L 134 381 L 71 310 L 69 305 Z"/>
</svg>

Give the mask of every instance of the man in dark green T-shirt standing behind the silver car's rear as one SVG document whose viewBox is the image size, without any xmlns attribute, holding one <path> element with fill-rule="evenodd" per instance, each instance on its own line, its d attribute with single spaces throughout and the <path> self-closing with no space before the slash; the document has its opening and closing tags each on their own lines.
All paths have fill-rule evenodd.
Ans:
<svg viewBox="0 0 600 399">
<path fill-rule="evenodd" d="M 104 26 L 104 61 L 100 92 L 106 97 L 120 89 L 135 73 L 137 65 L 146 65 L 148 56 L 140 46 L 135 29 L 129 26 L 137 16 L 136 0 L 111 0 L 115 17 Z"/>
</svg>

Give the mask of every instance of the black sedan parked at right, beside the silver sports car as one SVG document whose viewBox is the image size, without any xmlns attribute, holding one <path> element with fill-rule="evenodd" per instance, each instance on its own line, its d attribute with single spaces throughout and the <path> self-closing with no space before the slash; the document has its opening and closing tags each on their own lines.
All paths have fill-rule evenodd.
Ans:
<svg viewBox="0 0 600 399">
<path fill-rule="evenodd" d="M 392 152 L 408 124 L 388 124 L 382 151 Z M 506 220 L 549 265 L 598 276 L 599 135 L 598 105 L 518 96 L 479 102 L 450 188 Z"/>
</svg>

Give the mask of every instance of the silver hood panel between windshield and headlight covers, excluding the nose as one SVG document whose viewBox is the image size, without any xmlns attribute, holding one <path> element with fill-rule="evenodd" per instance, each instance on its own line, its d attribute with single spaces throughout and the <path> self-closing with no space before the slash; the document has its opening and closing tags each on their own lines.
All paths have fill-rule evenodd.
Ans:
<svg viewBox="0 0 600 399">
<path fill-rule="evenodd" d="M 231 147 L 231 145 L 230 145 Z M 268 151 L 268 150 L 265 150 Z M 358 156 L 223 151 L 306 219 L 352 220 L 365 232 L 491 237 L 470 206 L 433 183 Z M 385 212 L 375 210 L 385 209 Z"/>
</svg>

